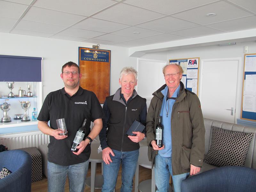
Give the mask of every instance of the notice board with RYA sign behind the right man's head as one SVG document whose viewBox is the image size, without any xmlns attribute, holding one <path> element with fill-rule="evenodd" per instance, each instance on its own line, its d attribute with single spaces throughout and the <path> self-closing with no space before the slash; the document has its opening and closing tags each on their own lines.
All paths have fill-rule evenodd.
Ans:
<svg viewBox="0 0 256 192">
<path fill-rule="evenodd" d="M 184 71 L 180 80 L 186 89 L 198 96 L 199 57 L 185 59 L 170 59 L 169 63 L 180 65 Z"/>
</svg>

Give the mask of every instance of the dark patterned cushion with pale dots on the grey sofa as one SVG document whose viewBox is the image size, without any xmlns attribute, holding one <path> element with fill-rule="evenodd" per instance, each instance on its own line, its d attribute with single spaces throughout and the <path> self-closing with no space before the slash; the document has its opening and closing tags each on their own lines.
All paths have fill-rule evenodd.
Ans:
<svg viewBox="0 0 256 192">
<path fill-rule="evenodd" d="M 212 143 L 204 162 L 215 166 L 244 166 L 253 133 L 212 126 Z"/>
</svg>

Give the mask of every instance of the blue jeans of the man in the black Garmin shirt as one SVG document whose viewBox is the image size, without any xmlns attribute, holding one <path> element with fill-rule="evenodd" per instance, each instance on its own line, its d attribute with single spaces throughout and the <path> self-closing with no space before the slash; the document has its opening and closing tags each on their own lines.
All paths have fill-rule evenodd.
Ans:
<svg viewBox="0 0 256 192">
<path fill-rule="evenodd" d="M 69 191 L 83 192 L 89 160 L 69 166 L 61 166 L 48 161 L 48 192 L 64 192 L 68 175 Z"/>
</svg>

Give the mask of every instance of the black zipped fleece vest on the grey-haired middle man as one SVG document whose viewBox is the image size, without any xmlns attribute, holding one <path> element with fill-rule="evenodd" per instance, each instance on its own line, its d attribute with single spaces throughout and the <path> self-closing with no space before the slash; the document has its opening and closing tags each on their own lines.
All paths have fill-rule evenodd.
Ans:
<svg viewBox="0 0 256 192">
<path fill-rule="evenodd" d="M 113 100 L 111 95 L 106 98 L 110 116 L 108 119 L 107 142 L 111 149 L 118 151 L 134 151 L 140 148 L 139 143 L 132 142 L 126 132 L 134 120 L 140 121 L 140 113 L 146 105 L 146 99 L 136 95 L 125 106 Z"/>
</svg>

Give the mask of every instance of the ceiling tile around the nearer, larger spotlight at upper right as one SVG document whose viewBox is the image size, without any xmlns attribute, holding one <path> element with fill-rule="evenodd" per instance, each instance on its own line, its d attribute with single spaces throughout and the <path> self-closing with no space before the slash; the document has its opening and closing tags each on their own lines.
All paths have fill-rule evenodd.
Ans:
<svg viewBox="0 0 256 192">
<path fill-rule="evenodd" d="M 208 13 L 215 13 L 216 16 L 207 17 L 206 14 Z M 245 17 L 249 15 L 252 14 L 242 9 L 239 9 L 235 5 L 229 4 L 225 1 L 220 1 L 217 3 L 191 9 L 185 12 L 177 13 L 172 16 L 205 25 L 219 21 Z"/>
</svg>

